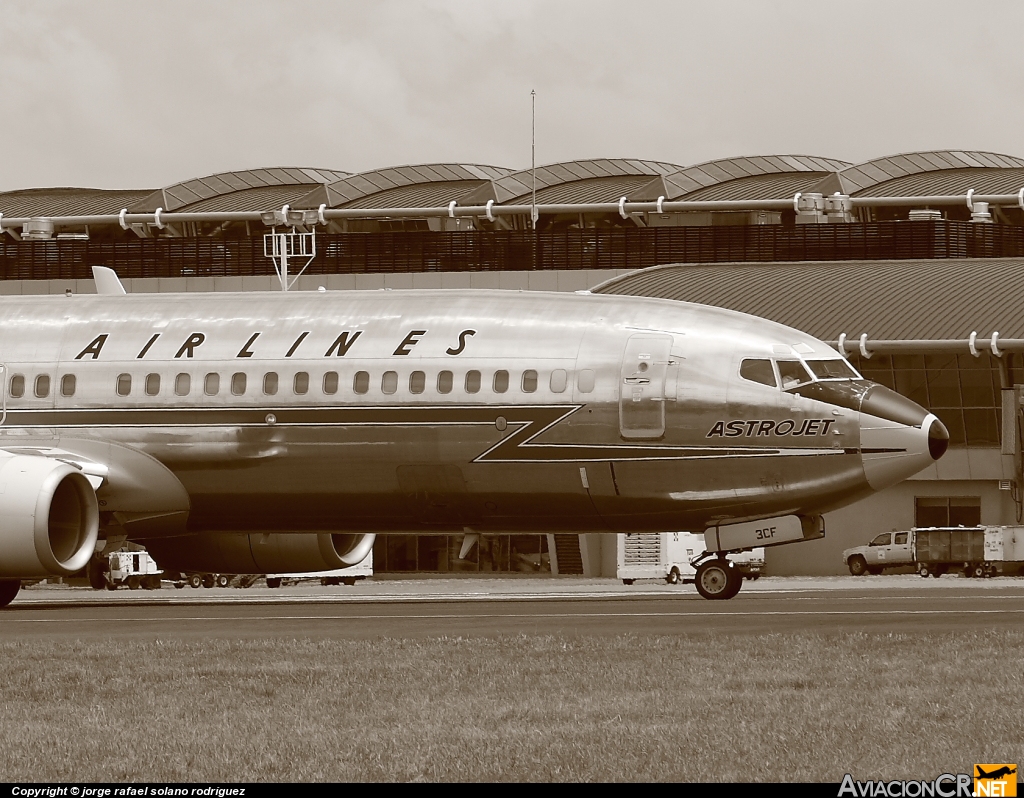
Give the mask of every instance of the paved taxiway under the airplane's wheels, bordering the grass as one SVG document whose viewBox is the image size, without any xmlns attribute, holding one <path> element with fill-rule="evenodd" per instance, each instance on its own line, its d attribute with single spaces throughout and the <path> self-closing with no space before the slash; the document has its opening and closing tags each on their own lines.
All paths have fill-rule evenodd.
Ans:
<svg viewBox="0 0 1024 798">
<path fill-rule="evenodd" d="M 954 632 L 1022 625 L 1019 579 L 762 579 L 729 601 L 706 601 L 692 586 L 446 579 L 115 593 L 39 586 L 0 612 L 0 639 Z"/>
</svg>

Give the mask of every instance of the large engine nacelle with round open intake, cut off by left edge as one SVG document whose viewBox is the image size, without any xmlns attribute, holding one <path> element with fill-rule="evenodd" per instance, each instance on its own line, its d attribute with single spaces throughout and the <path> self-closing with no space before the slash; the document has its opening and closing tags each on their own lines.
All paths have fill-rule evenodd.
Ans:
<svg viewBox="0 0 1024 798">
<path fill-rule="evenodd" d="M 0 453 L 0 578 L 67 577 L 89 561 L 99 503 L 59 460 Z"/>
</svg>

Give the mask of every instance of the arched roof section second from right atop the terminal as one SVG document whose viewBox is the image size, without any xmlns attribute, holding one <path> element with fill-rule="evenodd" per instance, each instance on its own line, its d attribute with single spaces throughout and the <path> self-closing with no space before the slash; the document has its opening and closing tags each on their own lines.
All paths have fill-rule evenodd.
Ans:
<svg viewBox="0 0 1024 798">
<path fill-rule="evenodd" d="M 791 178 L 779 184 L 777 188 L 769 188 L 770 180 L 765 175 L 803 176 L 807 185 L 812 185 L 821 177 L 850 166 L 846 161 L 834 158 L 820 158 L 806 155 L 753 156 L 750 158 L 724 158 L 708 161 L 695 166 L 687 166 L 675 172 L 664 175 L 660 180 L 653 180 L 643 191 L 637 192 L 631 200 L 656 200 L 665 197 L 667 200 L 731 200 L 751 199 L 744 186 L 756 185 L 758 191 L 768 192 L 769 196 L 757 199 L 778 199 L 787 196 L 790 185 L 795 181 Z M 796 182 L 799 183 L 800 178 Z M 771 192 L 778 191 L 777 196 Z M 788 194 L 793 196 L 800 188 Z"/>
</svg>

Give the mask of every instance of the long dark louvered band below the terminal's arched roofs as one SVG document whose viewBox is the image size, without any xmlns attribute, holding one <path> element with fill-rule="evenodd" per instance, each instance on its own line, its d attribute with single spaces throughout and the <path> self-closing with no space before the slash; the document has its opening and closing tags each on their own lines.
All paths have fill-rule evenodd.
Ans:
<svg viewBox="0 0 1024 798">
<path fill-rule="evenodd" d="M 643 268 L 663 263 L 1024 256 L 1024 227 L 961 221 L 318 235 L 306 274 Z M 272 275 L 253 239 L 0 242 L 0 279 Z"/>
</svg>

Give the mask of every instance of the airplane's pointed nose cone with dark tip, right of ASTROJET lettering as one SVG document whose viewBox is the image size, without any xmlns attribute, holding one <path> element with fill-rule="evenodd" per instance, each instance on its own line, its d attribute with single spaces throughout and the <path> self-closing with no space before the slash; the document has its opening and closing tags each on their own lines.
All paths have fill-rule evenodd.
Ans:
<svg viewBox="0 0 1024 798">
<path fill-rule="evenodd" d="M 873 385 L 860 406 L 860 452 L 867 484 L 876 491 L 901 482 L 945 454 L 949 432 L 933 414 L 884 385 Z"/>
</svg>

